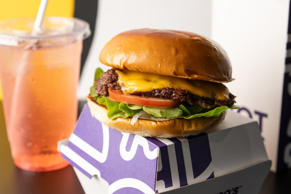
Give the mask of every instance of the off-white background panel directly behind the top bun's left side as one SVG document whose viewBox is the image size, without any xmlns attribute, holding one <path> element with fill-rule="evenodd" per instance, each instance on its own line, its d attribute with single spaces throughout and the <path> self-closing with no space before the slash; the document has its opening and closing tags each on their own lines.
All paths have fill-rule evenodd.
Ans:
<svg viewBox="0 0 291 194">
<path fill-rule="evenodd" d="M 137 28 L 178 29 L 211 33 L 211 0 L 99 0 L 92 46 L 81 75 L 78 98 L 85 99 L 99 62 L 99 53 L 113 36 Z"/>
</svg>

